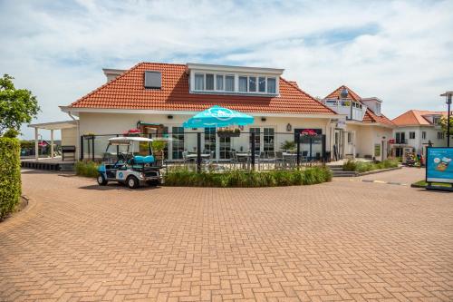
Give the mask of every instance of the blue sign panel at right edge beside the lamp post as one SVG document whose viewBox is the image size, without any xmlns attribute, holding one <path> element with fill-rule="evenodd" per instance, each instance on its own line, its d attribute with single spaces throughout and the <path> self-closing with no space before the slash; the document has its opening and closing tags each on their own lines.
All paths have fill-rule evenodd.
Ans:
<svg viewBox="0 0 453 302">
<path fill-rule="evenodd" d="M 453 183 L 453 148 L 428 148 L 426 181 Z"/>
</svg>

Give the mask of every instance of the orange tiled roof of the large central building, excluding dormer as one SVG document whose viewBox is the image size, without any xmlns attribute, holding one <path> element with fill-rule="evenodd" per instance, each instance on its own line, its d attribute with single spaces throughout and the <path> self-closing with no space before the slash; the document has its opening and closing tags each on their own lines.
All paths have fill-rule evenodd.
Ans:
<svg viewBox="0 0 453 302">
<path fill-rule="evenodd" d="M 161 89 L 145 89 L 145 71 L 162 74 Z M 275 97 L 189 93 L 187 66 L 175 63 L 139 63 L 119 77 L 88 93 L 71 108 L 203 111 L 219 105 L 239 112 L 336 114 L 308 93 L 280 78 Z"/>
</svg>

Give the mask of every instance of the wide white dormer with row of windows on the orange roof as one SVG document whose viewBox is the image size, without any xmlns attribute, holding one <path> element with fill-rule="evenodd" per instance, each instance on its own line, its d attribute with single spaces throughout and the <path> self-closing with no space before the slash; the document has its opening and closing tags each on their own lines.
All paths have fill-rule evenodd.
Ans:
<svg viewBox="0 0 453 302">
<path fill-rule="evenodd" d="M 190 93 L 279 95 L 284 69 L 188 63 Z"/>
</svg>

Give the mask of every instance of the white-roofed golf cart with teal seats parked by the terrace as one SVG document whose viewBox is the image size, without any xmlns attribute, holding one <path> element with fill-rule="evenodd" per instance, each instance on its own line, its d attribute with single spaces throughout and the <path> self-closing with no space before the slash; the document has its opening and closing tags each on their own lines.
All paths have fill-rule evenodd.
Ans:
<svg viewBox="0 0 453 302">
<path fill-rule="evenodd" d="M 162 167 L 156 164 L 151 141 L 144 137 L 111 138 L 98 169 L 98 183 L 105 186 L 118 181 L 130 189 L 158 185 Z"/>
</svg>

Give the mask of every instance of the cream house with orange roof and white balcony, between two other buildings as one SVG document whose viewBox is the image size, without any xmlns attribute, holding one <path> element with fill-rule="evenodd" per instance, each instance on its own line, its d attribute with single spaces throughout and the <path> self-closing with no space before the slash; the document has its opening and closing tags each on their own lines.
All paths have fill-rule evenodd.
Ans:
<svg viewBox="0 0 453 302">
<path fill-rule="evenodd" d="M 394 124 L 382 112 L 382 101 L 362 98 L 345 85 L 323 99 L 325 106 L 346 116 L 332 130 L 336 158 L 371 158 L 378 161 L 390 155 Z"/>
</svg>

